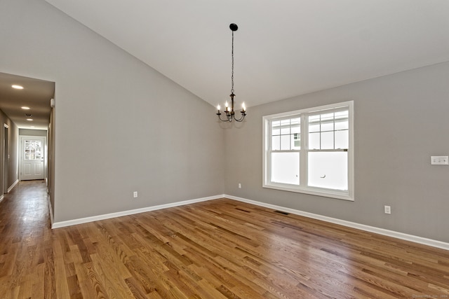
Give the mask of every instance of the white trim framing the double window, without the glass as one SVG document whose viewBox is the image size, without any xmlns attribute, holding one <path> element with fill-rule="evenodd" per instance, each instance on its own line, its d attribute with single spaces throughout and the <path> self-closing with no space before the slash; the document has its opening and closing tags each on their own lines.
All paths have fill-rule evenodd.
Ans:
<svg viewBox="0 0 449 299">
<path fill-rule="evenodd" d="M 348 190 L 334 190 L 334 189 L 325 189 L 325 188 L 314 188 L 309 186 L 293 186 L 286 183 L 273 183 L 269 180 L 270 163 L 269 163 L 269 142 L 270 139 L 267 137 L 271 137 L 271 133 L 269 132 L 269 120 L 272 118 L 281 118 L 288 116 L 295 116 L 297 114 L 311 113 L 314 111 L 322 111 L 326 109 L 335 109 L 340 106 L 347 106 L 349 111 L 349 149 L 348 149 Z M 319 195 L 323 197 L 332 197 L 340 200 L 351 200 L 354 201 L 354 101 L 341 102 L 336 104 L 330 104 L 319 107 L 312 107 L 311 109 L 301 109 L 297 111 L 288 111 L 283 113 L 272 114 L 269 116 L 262 117 L 262 169 L 263 169 L 263 178 L 262 178 L 262 187 L 263 188 L 272 188 L 276 190 L 284 190 L 296 193 L 305 193 L 310 195 Z M 305 129 L 303 129 L 304 124 L 301 124 L 301 135 L 305 136 Z M 304 138 L 304 137 L 302 137 Z M 301 160 L 304 161 L 304 156 L 307 155 L 307 151 L 301 151 Z M 300 169 L 300 176 L 304 177 L 303 172 L 307 172 L 306 167 L 302 167 Z"/>
</svg>

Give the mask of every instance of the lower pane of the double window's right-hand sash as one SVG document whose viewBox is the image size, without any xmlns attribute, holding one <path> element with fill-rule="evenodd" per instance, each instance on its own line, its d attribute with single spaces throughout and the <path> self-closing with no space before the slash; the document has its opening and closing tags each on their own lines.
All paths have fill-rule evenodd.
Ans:
<svg viewBox="0 0 449 299">
<path fill-rule="evenodd" d="M 347 152 L 309 153 L 309 186 L 348 190 Z"/>
</svg>

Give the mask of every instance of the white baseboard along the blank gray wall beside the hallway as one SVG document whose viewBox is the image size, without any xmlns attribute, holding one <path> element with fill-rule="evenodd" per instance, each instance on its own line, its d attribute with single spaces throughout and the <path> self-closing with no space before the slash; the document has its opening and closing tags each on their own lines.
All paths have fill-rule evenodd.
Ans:
<svg viewBox="0 0 449 299">
<path fill-rule="evenodd" d="M 132 209 L 132 210 L 128 210 L 128 211 L 119 211 L 116 213 L 103 214 L 103 215 L 73 219 L 73 220 L 68 220 L 68 221 L 60 221 L 60 222 L 52 221 L 51 228 L 63 228 L 65 226 L 70 226 L 70 225 L 76 225 L 76 224 L 88 223 L 88 222 L 93 222 L 93 221 L 109 219 L 109 218 L 116 218 L 116 217 L 121 217 L 121 216 L 128 216 L 128 215 L 133 215 L 133 214 L 144 213 L 145 211 L 156 211 L 159 209 L 167 209 L 170 207 L 179 207 L 179 206 L 183 206 L 185 204 L 194 204 L 196 202 L 206 202 L 208 200 L 216 200 L 217 198 L 222 198 L 222 197 L 223 197 L 223 195 L 215 195 L 215 196 L 197 198 L 195 200 L 185 200 L 182 202 L 173 202 L 170 204 L 161 204 L 161 205 L 153 206 L 153 207 Z"/>
</svg>

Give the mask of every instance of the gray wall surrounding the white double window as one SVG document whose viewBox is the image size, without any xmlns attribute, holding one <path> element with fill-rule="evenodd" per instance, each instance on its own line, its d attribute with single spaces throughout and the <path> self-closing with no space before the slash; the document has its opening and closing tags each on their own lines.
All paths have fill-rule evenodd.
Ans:
<svg viewBox="0 0 449 299">
<path fill-rule="evenodd" d="M 227 130 L 225 192 L 449 242 L 449 63 L 314 92 L 248 109 Z M 262 116 L 354 100 L 355 201 L 262 188 Z M 237 188 L 238 183 L 242 188 Z M 384 205 L 391 205 L 391 215 Z"/>
</svg>

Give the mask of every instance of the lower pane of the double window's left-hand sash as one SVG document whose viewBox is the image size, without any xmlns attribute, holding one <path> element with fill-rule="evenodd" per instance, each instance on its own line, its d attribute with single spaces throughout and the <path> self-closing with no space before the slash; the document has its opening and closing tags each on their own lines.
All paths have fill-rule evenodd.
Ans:
<svg viewBox="0 0 449 299">
<path fill-rule="evenodd" d="M 272 182 L 300 184 L 300 153 L 272 153 Z"/>
</svg>

